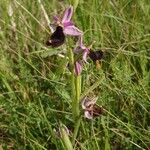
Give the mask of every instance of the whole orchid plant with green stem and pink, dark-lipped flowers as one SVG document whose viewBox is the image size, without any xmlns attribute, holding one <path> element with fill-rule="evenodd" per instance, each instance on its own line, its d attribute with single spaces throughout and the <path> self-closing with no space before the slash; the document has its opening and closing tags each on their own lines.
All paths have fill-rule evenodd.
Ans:
<svg viewBox="0 0 150 150">
<path fill-rule="evenodd" d="M 65 12 L 63 17 L 54 16 L 54 25 L 56 26 L 55 31 L 50 36 L 47 41 L 48 46 L 58 47 L 65 43 L 65 38 L 67 35 L 75 36 L 78 38 L 78 42 L 75 48 L 72 50 L 68 48 L 68 57 L 69 64 L 71 67 L 71 88 L 72 88 L 72 113 L 74 117 L 74 121 L 77 123 L 75 126 L 74 139 L 77 135 L 79 128 L 79 118 L 80 118 L 80 93 L 81 93 L 81 72 L 83 70 L 83 64 L 87 63 L 88 56 L 93 60 L 97 60 L 100 57 L 100 52 L 95 53 L 90 50 L 90 47 L 87 47 L 83 43 L 83 32 L 78 29 L 74 23 L 71 21 L 73 15 L 73 7 L 69 6 Z M 75 55 L 79 55 L 75 59 Z M 81 108 L 84 111 L 84 116 L 87 119 L 93 119 L 94 116 L 99 116 L 101 113 L 101 108 L 96 106 L 96 100 L 90 100 L 88 98 L 84 98 L 81 103 Z"/>
</svg>

